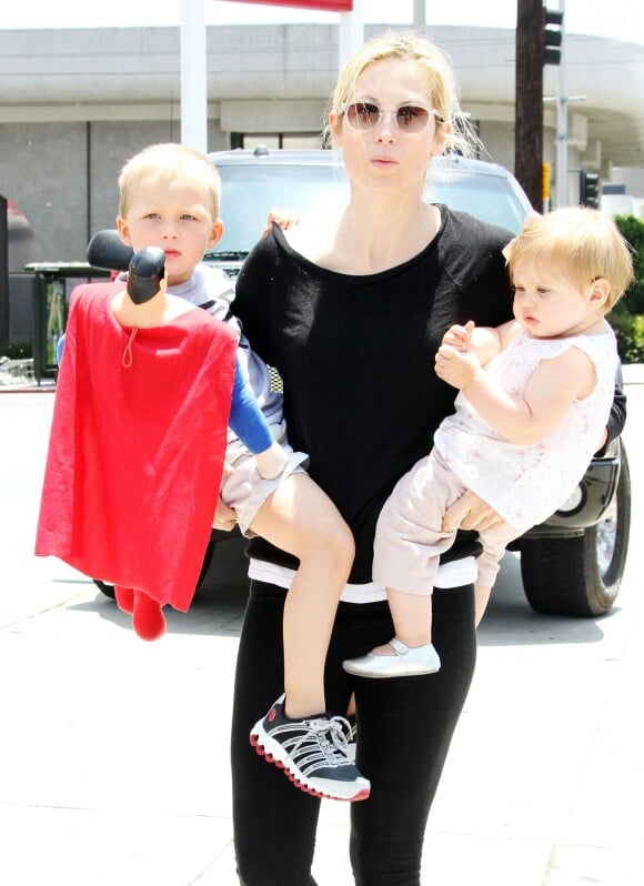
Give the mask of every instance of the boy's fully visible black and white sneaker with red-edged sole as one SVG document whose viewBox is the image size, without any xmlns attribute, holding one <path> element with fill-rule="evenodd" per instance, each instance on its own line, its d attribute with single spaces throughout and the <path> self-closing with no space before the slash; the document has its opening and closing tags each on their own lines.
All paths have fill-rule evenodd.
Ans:
<svg viewBox="0 0 644 886">
<path fill-rule="evenodd" d="M 251 744 L 269 763 L 284 769 L 293 784 L 316 797 L 366 799 L 368 778 L 350 756 L 344 717 L 326 714 L 290 719 L 282 695 L 251 731 Z"/>
</svg>

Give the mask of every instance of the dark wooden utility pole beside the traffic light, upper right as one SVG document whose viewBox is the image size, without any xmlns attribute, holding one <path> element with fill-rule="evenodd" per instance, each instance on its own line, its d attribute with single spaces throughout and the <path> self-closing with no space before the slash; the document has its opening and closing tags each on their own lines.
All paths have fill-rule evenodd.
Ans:
<svg viewBox="0 0 644 886">
<path fill-rule="evenodd" d="M 542 0 L 516 0 L 514 174 L 537 212 L 542 209 L 543 31 Z"/>
</svg>

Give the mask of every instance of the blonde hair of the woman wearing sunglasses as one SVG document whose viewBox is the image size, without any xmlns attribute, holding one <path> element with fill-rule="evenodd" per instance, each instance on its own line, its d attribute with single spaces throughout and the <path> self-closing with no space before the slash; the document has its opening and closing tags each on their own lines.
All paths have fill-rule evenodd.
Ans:
<svg viewBox="0 0 644 886">
<path fill-rule="evenodd" d="M 444 122 L 452 124 L 451 131 L 445 128 L 445 150 L 471 155 L 479 148 L 479 139 L 461 112 L 452 63 L 437 46 L 415 31 L 388 31 L 363 43 L 340 72 L 329 114 L 335 114 L 340 122 L 355 93 L 360 75 L 370 66 L 388 59 L 417 64 L 427 80 L 427 103 L 435 108 Z M 331 129 L 328 123 L 326 134 Z"/>
</svg>

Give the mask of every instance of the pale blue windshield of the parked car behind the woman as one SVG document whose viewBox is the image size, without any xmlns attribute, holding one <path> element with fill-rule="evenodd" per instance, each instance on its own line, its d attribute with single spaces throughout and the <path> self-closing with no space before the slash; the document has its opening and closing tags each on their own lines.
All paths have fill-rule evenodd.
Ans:
<svg viewBox="0 0 644 886">
<path fill-rule="evenodd" d="M 224 234 L 209 256 L 249 252 L 271 209 L 296 211 L 303 218 L 324 217 L 349 197 L 346 175 L 339 164 L 222 163 L 218 169 Z M 527 209 L 511 180 L 473 172 L 465 164 L 457 170 L 434 170 L 426 194 L 427 200 L 464 210 L 514 233 Z"/>
</svg>

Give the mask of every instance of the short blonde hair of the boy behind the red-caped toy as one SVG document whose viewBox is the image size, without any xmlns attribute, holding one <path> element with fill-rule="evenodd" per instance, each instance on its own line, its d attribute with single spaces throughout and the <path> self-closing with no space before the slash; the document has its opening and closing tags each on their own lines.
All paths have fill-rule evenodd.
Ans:
<svg viewBox="0 0 644 886">
<path fill-rule="evenodd" d="M 141 182 L 182 181 L 204 192 L 213 220 L 219 219 L 221 179 L 214 163 L 187 144 L 151 144 L 132 157 L 119 175 L 119 215 L 127 218 Z"/>
</svg>

